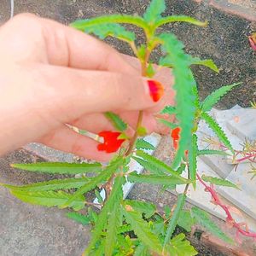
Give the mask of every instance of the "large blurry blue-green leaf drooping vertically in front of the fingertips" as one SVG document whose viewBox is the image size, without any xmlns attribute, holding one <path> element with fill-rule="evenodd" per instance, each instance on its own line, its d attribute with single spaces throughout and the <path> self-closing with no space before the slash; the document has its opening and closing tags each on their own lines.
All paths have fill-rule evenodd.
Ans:
<svg viewBox="0 0 256 256">
<path fill-rule="evenodd" d="M 195 79 L 189 69 L 189 60 L 183 51 L 183 44 L 170 33 L 162 33 L 159 36 L 162 50 L 172 60 L 172 73 L 175 77 L 173 89 L 176 90 L 176 117 L 178 126 L 181 128 L 180 139 L 172 167 L 176 169 L 186 149 L 192 143 L 191 130 L 195 119 Z"/>
</svg>

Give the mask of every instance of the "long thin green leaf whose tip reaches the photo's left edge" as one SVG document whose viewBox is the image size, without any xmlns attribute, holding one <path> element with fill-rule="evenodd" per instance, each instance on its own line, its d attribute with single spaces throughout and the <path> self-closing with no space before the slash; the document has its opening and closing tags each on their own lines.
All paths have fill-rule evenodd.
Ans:
<svg viewBox="0 0 256 256">
<path fill-rule="evenodd" d="M 87 177 L 81 178 L 64 178 L 64 179 L 53 179 L 47 182 L 32 183 L 23 186 L 15 186 L 9 184 L 1 184 L 3 187 L 8 189 L 17 189 L 22 191 L 49 191 L 49 190 L 60 190 L 60 189 L 78 189 L 85 183 L 88 183 Z"/>
</svg>

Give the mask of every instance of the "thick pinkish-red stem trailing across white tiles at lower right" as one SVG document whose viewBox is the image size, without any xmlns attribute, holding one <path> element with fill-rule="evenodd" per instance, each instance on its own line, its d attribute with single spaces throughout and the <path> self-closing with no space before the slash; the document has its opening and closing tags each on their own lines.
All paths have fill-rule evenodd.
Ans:
<svg viewBox="0 0 256 256">
<path fill-rule="evenodd" d="M 240 233 L 243 236 L 253 237 L 255 239 L 256 233 L 250 232 L 248 230 L 243 230 L 241 229 L 241 224 L 236 223 L 236 220 L 231 215 L 229 207 L 224 205 L 224 203 L 220 201 L 217 192 L 213 189 L 213 186 L 208 186 L 207 183 L 205 183 L 198 174 L 196 174 L 196 177 L 201 182 L 201 184 L 203 184 L 203 186 L 206 188 L 205 190 L 212 195 L 212 200 L 214 201 L 214 203 L 224 209 L 224 212 L 227 215 L 226 221 L 233 225 L 233 227 L 236 229 L 236 234 L 238 235 Z"/>
</svg>

